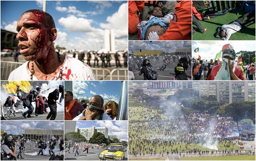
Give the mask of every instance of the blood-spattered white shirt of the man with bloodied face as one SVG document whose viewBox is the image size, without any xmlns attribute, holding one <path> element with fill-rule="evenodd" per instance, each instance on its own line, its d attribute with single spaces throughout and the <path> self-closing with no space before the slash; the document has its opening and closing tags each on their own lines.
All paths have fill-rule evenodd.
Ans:
<svg viewBox="0 0 256 161">
<path fill-rule="evenodd" d="M 35 64 L 34 64 L 35 65 Z M 65 55 L 65 60 L 61 66 L 62 80 L 95 80 L 91 67 L 82 63 L 78 59 Z M 28 68 L 28 61 L 11 72 L 8 80 L 30 80 L 31 69 Z M 33 80 L 38 79 L 33 75 Z M 60 80 L 60 71 L 52 80 Z"/>
</svg>

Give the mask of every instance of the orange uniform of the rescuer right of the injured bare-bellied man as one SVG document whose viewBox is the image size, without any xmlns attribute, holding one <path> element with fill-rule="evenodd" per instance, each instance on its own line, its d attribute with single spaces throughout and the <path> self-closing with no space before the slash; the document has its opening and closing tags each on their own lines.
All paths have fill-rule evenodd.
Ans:
<svg viewBox="0 0 256 161">
<path fill-rule="evenodd" d="M 191 1 L 181 1 L 175 6 L 174 18 L 166 32 L 158 40 L 191 40 Z"/>
</svg>

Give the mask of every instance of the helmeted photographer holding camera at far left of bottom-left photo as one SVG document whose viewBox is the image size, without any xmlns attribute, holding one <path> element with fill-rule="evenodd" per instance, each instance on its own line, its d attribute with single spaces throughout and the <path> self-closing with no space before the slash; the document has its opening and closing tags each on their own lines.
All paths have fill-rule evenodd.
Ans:
<svg viewBox="0 0 256 161">
<path fill-rule="evenodd" d="M 5 135 L 1 145 L 1 160 L 16 160 L 16 149 L 19 142 L 12 134 Z"/>
</svg>

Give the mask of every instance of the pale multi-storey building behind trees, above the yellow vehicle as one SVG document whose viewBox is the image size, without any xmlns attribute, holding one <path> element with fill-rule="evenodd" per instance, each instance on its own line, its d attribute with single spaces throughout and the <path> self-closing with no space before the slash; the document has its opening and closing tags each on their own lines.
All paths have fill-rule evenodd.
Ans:
<svg viewBox="0 0 256 161">
<path fill-rule="evenodd" d="M 100 132 L 105 135 L 105 138 L 108 138 L 108 128 L 106 127 L 95 127 L 95 126 L 92 126 L 89 128 L 76 127 L 75 132 L 83 135 L 86 138 L 86 140 L 90 140 L 90 138 L 95 132 Z"/>
</svg>

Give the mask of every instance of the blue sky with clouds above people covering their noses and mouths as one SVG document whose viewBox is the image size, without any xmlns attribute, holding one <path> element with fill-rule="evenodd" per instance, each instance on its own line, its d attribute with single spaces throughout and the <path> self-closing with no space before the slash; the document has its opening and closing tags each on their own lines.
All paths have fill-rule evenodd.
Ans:
<svg viewBox="0 0 256 161">
<path fill-rule="evenodd" d="M 91 98 L 100 95 L 104 103 L 109 100 L 119 102 L 122 81 L 73 81 L 74 98 Z M 95 86 L 95 87 L 94 87 Z"/>
</svg>

